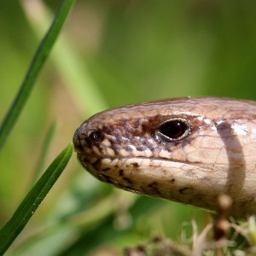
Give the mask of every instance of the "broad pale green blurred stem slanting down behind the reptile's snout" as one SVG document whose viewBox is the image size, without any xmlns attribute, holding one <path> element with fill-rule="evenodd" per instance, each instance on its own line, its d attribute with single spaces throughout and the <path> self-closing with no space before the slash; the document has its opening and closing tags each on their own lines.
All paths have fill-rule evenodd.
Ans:
<svg viewBox="0 0 256 256">
<path fill-rule="evenodd" d="M 27 8 L 26 4 L 23 9 L 36 36 L 41 38 L 51 15 L 50 10 L 43 2 L 38 6 L 37 15 L 34 14 L 33 9 Z M 108 103 L 86 67 L 86 60 L 69 43 L 67 34 L 63 33 L 50 58 L 80 113 L 90 116 L 108 108 Z"/>
</svg>

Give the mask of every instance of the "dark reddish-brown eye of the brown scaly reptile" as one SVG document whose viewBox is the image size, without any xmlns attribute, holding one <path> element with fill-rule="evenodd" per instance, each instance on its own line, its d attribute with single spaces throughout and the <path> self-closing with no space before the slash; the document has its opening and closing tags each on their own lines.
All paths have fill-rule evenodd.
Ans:
<svg viewBox="0 0 256 256">
<path fill-rule="evenodd" d="M 160 125 L 156 132 L 162 140 L 172 143 L 188 137 L 190 134 L 190 122 L 186 119 L 170 119 Z"/>
</svg>

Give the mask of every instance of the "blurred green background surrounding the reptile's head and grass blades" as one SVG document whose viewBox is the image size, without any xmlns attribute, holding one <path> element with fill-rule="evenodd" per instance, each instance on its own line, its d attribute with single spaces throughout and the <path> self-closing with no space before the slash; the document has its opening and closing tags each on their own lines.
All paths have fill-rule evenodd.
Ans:
<svg viewBox="0 0 256 256">
<path fill-rule="evenodd" d="M 44 8 L 54 13 L 58 3 L 1 3 L 1 119 L 49 26 Z M 105 108 L 175 96 L 256 99 L 255 67 L 256 2 L 77 1 L 1 152 L 0 224 L 30 188 L 54 121 L 46 166 Z M 73 155 L 9 255 L 119 255 L 155 235 L 189 237 L 192 215 L 203 226 L 203 211 L 113 189 Z"/>
</svg>

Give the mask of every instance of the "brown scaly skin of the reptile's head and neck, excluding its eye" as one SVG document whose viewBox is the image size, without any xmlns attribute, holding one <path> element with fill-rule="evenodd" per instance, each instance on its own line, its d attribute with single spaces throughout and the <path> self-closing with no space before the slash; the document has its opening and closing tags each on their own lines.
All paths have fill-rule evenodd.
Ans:
<svg viewBox="0 0 256 256">
<path fill-rule="evenodd" d="M 188 124 L 187 137 L 159 136 L 170 119 Z M 188 97 L 113 108 L 84 121 L 73 143 L 87 171 L 120 189 L 213 211 L 225 193 L 233 217 L 256 212 L 256 102 Z"/>
</svg>

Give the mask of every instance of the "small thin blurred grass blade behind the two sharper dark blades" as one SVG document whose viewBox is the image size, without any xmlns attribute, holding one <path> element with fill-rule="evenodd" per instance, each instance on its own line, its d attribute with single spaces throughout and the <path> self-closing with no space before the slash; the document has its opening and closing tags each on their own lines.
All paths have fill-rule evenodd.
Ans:
<svg viewBox="0 0 256 256">
<path fill-rule="evenodd" d="M 49 151 L 49 145 L 52 142 L 52 139 L 55 134 L 56 123 L 54 122 L 52 125 L 49 126 L 48 131 L 46 132 L 46 136 L 44 138 L 44 143 L 41 149 L 41 153 L 39 154 L 38 163 L 35 167 L 32 177 L 32 184 L 35 180 L 39 177 L 39 174 L 44 170 L 44 163 Z"/>
</svg>

